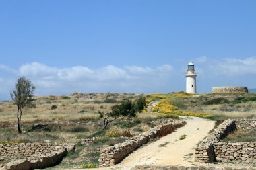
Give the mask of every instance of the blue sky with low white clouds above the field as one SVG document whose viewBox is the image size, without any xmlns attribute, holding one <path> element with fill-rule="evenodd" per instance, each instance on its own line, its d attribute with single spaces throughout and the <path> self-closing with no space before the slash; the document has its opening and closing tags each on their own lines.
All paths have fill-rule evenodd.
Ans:
<svg viewBox="0 0 256 170">
<path fill-rule="evenodd" d="M 256 87 L 255 0 L 0 0 L 0 100 Z"/>
</svg>

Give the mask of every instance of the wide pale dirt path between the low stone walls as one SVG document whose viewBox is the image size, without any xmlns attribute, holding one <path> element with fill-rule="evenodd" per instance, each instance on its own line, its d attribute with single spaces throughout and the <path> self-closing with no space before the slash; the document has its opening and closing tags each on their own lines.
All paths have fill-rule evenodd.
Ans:
<svg viewBox="0 0 256 170">
<path fill-rule="evenodd" d="M 187 124 L 168 134 L 143 146 L 126 157 L 121 163 L 104 169 L 128 170 L 135 165 L 192 165 L 194 148 L 207 133 L 214 128 L 214 121 L 203 118 L 184 118 Z M 185 139 L 179 140 L 183 135 Z M 103 168 L 100 168 L 103 169 Z"/>
</svg>

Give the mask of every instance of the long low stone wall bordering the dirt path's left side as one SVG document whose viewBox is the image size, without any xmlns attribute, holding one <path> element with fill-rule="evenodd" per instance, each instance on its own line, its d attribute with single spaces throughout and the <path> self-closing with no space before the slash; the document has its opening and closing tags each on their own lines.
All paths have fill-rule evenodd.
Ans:
<svg viewBox="0 0 256 170">
<path fill-rule="evenodd" d="M 102 148 L 99 158 L 100 167 L 107 167 L 119 163 L 121 160 L 127 157 L 129 153 L 132 153 L 143 144 L 146 144 L 153 138 L 170 134 L 176 128 L 179 128 L 184 124 L 185 122 L 182 122 L 181 120 L 168 120 L 168 122 L 164 122 L 163 124 L 156 126 L 147 132 L 143 132 L 138 136 L 130 138 L 121 144 L 115 144 L 114 146 Z"/>
</svg>

